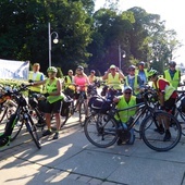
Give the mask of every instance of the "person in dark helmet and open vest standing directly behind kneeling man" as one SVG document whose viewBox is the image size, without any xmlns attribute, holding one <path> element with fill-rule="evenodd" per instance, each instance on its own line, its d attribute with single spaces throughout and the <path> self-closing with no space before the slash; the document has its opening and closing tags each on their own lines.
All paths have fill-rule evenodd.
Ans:
<svg viewBox="0 0 185 185">
<path fill-rule="evenodd" d="M 143 81 L 139 75 L 135 74 L 135 65 L 128 66 L 128 75 L 125 77 L 125 85 L 130 86 L 133 89 L 133 95 L 137 96 L 139 94 L 139 88 L 143 85 Z"/>
</svg>

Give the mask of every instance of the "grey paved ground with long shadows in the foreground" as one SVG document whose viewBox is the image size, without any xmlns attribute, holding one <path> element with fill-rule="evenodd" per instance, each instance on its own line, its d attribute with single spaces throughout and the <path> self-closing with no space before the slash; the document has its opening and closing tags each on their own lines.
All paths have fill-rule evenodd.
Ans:
<svg viewBox="0 0 185 185">
<path fill-rule="evenodd" d="M 39 150 L 23 131 L 0 149 L 1 185 L 185 185 L 185 137 L 168 152 L 153 151 L 140 139 L 101 149 L 71 119 L 58 140 L 50 136 L 41 143 Z"/>
</svg>

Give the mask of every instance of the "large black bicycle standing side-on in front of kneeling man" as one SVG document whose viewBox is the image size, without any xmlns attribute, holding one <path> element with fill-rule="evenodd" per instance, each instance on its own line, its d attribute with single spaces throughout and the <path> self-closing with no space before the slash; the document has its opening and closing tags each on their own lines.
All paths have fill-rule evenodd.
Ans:
<svg viewBox="0 0 185 185">
<path fill-rule="evenodd" d="M 137 107 L 143 106 L 140 113 L 136 114 L 132 121 L 128 121 L 126 128 L 120 121 L 115 120 L 115 114 L 128 109 L 116 110 L 115 106 L 112 106 L 112 108 L 107 111 L 102 111 L 101 107 L 99 110 L 95 110 L 95 112 L 85 122 L 85 136 L 92 145 L 100 148 L 112 146 L 120 137 L 127 141 L 131 138 L 131 130 L 134 128 L 138 119 L 148 112 L 148 115 L 141 122 L 139 128 L 144 143 L 156 151 L 168 151 L 174 148 L 181 139 L 181 125 L 172 114 L 150 108 L 148 103 L 149 96 L 152 96 L 151 91 L 145 91 L 143 95 L 144 103 L 130 108 L 136 109 Z M 166 120 L 173 123 L 170 126 L 172 136 L 170 141 L 163 141 L 163 135 L 155 132 L 155 128 L 159 128 L 161 123 L 165 125 Z"/>
</svg>

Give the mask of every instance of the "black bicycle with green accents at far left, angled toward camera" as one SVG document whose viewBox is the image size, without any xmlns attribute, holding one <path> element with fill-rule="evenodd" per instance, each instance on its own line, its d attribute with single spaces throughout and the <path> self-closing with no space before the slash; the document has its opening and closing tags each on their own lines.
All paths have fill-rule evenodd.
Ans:
<svg viewBox="0 0 185 185">
<path fill-rule="evenodd" d="M 14 91 L 9 91 L 3 95 L 14 98 L 17 102 L 17 108 L 15 113 L 13 113 L 10 120 L 7 122 L 4 132 L 0 136 L 1 147 L 9 145 L 10 141 L 13 141 L 20 134 L 23 125 L 25 124 L 37 148 L 41 148 L 41 144 L 37 134 L 37 127 L 32 120 L 32 115 L 29 114 L 27 100 L 22 94 L 22 91 L 27 90 L 28 86 L 30 85 L 21 85 L 18 89 Z"/>
</svg>

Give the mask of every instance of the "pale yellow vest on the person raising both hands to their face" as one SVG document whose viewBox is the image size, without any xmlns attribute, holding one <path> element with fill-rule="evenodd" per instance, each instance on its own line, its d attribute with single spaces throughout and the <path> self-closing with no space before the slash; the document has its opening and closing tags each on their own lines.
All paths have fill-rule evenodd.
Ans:
<svg viewBox="0 0 185 185">
<path fill-rule="evenodd" d="M 109 86 L 112 86 L 114 89 L 122 89 L 119 73 L 115 73 L 114 77 L 112 76 L 111 73 L 109 73 L 107 84 Z"/>
</svg>

